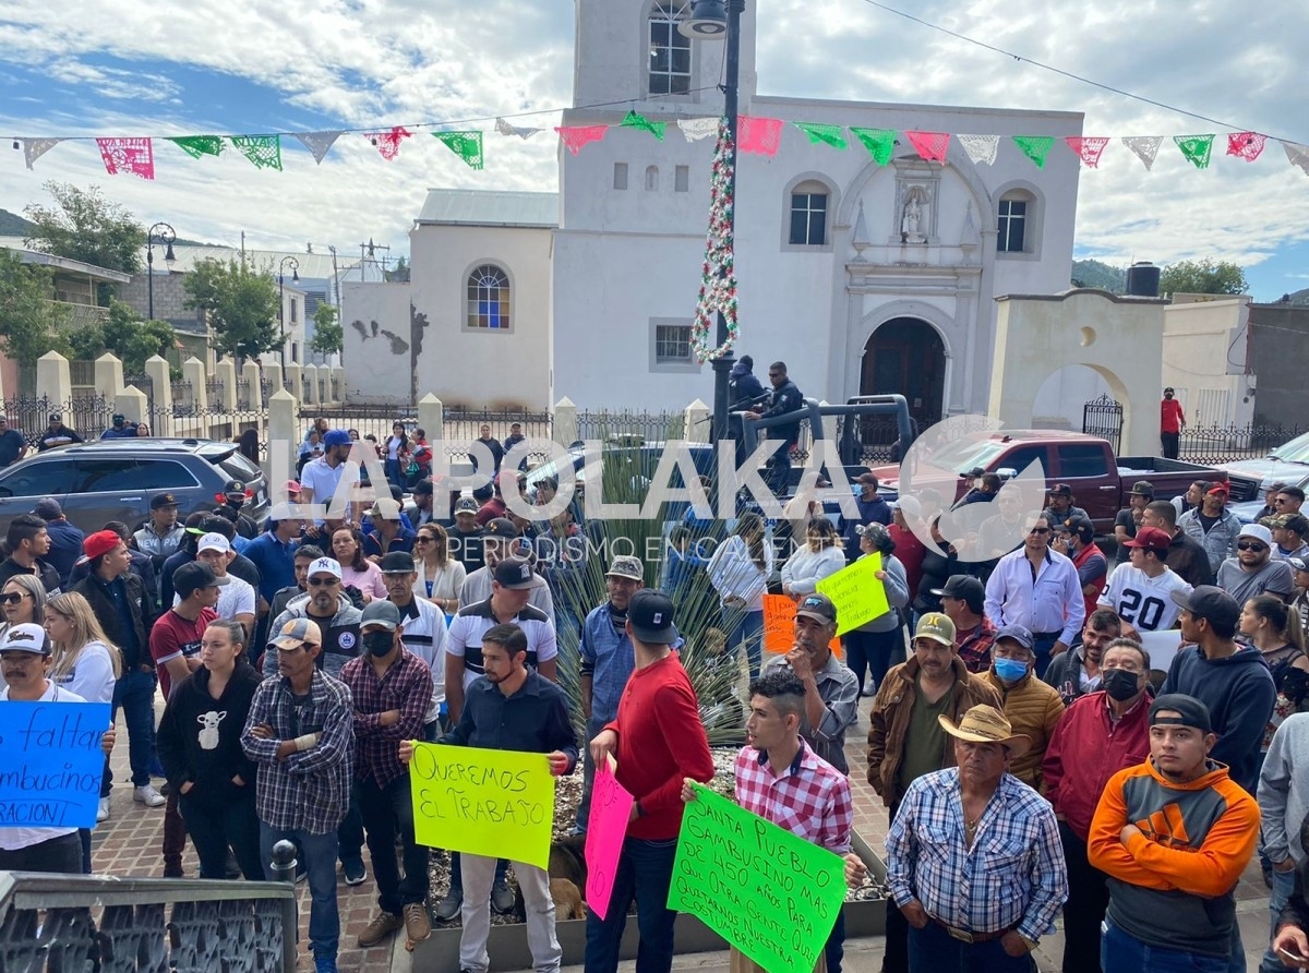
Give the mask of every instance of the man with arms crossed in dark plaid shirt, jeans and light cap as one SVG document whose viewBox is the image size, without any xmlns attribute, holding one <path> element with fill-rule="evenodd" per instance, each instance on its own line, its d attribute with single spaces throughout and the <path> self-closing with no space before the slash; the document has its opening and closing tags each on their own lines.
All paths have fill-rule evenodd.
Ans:
<svg viewBox="0 0 1309 973">
<path fill-rule="evenodd" d="M 280 674 L 255 690 L 241 748 L 259 765 L 259 854 L 271 863 L 276 842 L 298 846 L 309 872 L 314 972 L 336 973 L 336 826 L 350 807 L 355 714 L 350 689 L 315 664 L 322 640 L 309 618 L 283 625 L 270 643 L 278 648 Z M 271 864 L 264 868 L 272 881 Z"/>
</svg>

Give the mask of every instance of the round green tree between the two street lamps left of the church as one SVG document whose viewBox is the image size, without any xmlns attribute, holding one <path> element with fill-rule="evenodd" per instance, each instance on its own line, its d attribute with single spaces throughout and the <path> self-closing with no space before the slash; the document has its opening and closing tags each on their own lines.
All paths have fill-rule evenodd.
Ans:
<svg viewBox="0 0 1309 973">
<path fill-rule="evenodd" d="M 206 313 L 213 347 L 236 359 L 281 347 L 278 284 L 272 271 L 232 259 L 199 261 L 185 282 L 187 308 Z"/>
</svg>

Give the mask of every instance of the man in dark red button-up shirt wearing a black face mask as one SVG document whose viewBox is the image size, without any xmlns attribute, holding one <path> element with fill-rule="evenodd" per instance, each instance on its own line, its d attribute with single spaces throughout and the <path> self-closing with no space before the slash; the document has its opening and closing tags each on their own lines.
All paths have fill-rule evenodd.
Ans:
<svg viewBox="0 0 1309 973">
<path fill-rule="evenodd" d="M 1100 673 L 1105 688 L 1064 710 L 1041 763 L 1068 867 L 1063 973 L 1101 973 L 1100 923 L 1109 885 L 1086 860 L 1086 835 L 1109 778 L 1149 757 L 1149 656 L 1131 639 L 1114 639 Z"/>
</svg>

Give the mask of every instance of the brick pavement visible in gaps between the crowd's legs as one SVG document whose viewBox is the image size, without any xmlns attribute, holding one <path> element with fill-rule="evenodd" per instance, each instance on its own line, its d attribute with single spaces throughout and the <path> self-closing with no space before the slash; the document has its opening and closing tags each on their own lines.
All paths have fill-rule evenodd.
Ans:
<svg viewBox="0 0 1309 973">
<path fill-rule="evenodd" d="M 156 703 L 156 708 L 162 711 L 162 702 Z M 111 796 L 113 813 L 96 829 L 92 839 L 92 864 L 98 873 L 157 877 L 164 873 L 164 863 L 160 855 L 160 842 L 164 832 L 164 809 L 145 808 L 132 801 L 131 787 L 127 783 L 130 773 L 127 767 L 126 733 L 119 720 L 119 745 L 111 758 L 114 766 L 115 786 Z M 851 786 L 855 800 L 855 830 L 868 842 L 873 851 L 885 855 L 886 839 L 886 808 L 881 799 L 865 780 L 864 767 L 867 766 L 865 736 L 868 732 L 868 703 L 860 707 L 859 723 L 851 729 L 846 754 L 851 767 Z M 160 783 L 154 782 L 156 786 Z M 367 862 L 365 850 L 365 862 Z M 198 860 L 190 843 L 183 858 L 183 870 L 187 875 L 195 876 Z M 297 887 L 300 893 L 300 942 L 301 942 L 301 969 L 312 969 L 313 964 L 308 957 L 308 921 L 309 921 L 309 887 Z M 373 918 L 377 909 L 376 890 L 372 881 L 372 868 L 369 877 L 361 885 L 353 888 L 339 885 L 339 908 L 342 918 L 342 938 L 339 966 L 343 973 L 373 973 L 374 970 L 394 970 L 394 973 L 407 973 L 410 969 L 410 953 L 404 951 L 403 934 L 395 939 L 373 947 L 360 949 L 355 945 L 359 932 Z M 1237 888 L 1237 913 L 1241 922 L 1242 942 L 1246 952 L 1246 969 L 1254 973 L 1259 966 L 1268 934 L 1268 892 L 1263 885 L 1258 862 L 1251 862 Z M 846 973 L 877 973 L 881 969 L 882 942 L 881 939 L 851 940 L 847 944 Z M 1042 940 L 1037 951 L 1037 964 L 1041 970 L 1051 973 L 1058 970 L 1063 956 L 1063 936 L 1056 932 Z M 568 973 L 580 973 L 580 966 L 565 968 Z M 619 966 L 628 973 L 632 964 Z M 726 953 L 700 953 L 696 956 L 679 957 L 675 965 L 678 970 L 699 970 L 700 973 L 725 973 Z M 452 972 L 453 973 L 453 972 Z"/>
</svg>

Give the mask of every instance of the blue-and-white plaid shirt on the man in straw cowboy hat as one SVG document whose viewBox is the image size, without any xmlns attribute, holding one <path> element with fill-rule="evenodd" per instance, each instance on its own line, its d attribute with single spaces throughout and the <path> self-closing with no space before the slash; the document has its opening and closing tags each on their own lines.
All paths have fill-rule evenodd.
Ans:
<svg viewBox="0 0 1309 973">
<path fill-rule="evenodd" d="M 1016 928 L 1028 939 L 1054 932 L 1068 897 L 1055 812 L 1004 774 L 963 843 L 959 770 L 924 774 L 908 786 L 886 835 L 886 881 L 897 906 L 912 900 L 929 915 L 970 932 Z"/>
</svg>

